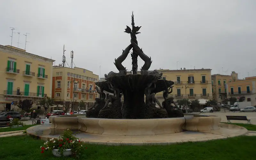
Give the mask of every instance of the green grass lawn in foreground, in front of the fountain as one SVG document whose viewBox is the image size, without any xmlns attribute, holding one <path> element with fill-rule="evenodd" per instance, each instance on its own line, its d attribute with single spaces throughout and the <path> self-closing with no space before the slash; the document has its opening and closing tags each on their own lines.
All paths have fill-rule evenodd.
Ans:
<svg viewBox="0 0 256 160">
<path fill-rule="evenodd" d="M 187 142 L 166 146 L 84 145 L 82 160 L 252 160 L 255 159 L 256 136 L 240 136 L 225 140 Z M 73 160 L 40 153 L 44 141 L 28 136 L 0 138 L 0 157 L 4 160 Z"/>
</svg>

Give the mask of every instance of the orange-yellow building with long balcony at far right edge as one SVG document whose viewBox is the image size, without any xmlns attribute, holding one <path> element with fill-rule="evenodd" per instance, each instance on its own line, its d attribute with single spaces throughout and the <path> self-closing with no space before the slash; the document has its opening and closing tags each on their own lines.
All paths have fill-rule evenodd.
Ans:
<svg viewBox="0 0 256 160">
<path fill-rule="evenodd" d="M 227 83 L 228 98 L 239 99 L 244 96 L 245 101 L 251 101 L 251 105 L 256 105 L 256 76 L 246 77 L 245 80 Z"/>
</svg>

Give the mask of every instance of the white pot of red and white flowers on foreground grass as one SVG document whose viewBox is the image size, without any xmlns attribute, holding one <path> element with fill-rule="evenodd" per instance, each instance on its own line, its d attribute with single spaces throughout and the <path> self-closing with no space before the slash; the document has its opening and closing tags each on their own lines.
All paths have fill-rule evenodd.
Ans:
<svg viewBox="0 0 256 160">
<path fill-rule="evenodd" d="M 61 156 L 78 156 L 79 152 L 83 148 L 82 142 L 72 135 L 71 130 L 64 131 L 59 138 L 52 138 L 41 146 L 41 153 L 44 151 L 52 150 L 52 154 L 56 157 Z"/>
</svg>

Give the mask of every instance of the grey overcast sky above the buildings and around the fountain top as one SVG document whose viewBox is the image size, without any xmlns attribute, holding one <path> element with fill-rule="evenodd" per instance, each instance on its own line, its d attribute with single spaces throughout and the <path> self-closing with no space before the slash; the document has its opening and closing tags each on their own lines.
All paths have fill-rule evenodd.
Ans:
<svg viewBox="0 0 256 160">
<path fill-rule="evenodd" d="M 61 63 L 63 44 L 70 65 L 101 77 L 117 71 L 114 59 L 130 44 L 124 33 L 135 26 L 143 52 L 153 60 L 150 69 L 211 68 L 212 74 L 239 78 L 256 76 L 255 0 L 1 0 L 0 44 L 10 45 L 12 31 L 20 32 L 19 48 Z M 17 47 L 18 34 L 13 34 Z M 130 71 L 129 54 L 123 65 Z M 144 62 L 138 58 L 139 70 Z"/>
</svg>

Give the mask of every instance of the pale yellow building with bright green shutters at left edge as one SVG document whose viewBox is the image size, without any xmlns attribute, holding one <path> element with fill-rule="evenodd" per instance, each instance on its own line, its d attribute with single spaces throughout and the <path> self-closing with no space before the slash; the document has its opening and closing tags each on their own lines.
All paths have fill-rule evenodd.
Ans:
<svg viewBox="0 0 256 160">
<path fill-rule="evenodd" d="M 19 100 L 32 99 L 33 108 L 52 96 L 52 64 L 55 60 L 0 45 L 0 110 L 19 109 Z"/>
</svg>

